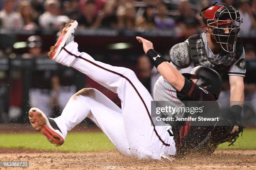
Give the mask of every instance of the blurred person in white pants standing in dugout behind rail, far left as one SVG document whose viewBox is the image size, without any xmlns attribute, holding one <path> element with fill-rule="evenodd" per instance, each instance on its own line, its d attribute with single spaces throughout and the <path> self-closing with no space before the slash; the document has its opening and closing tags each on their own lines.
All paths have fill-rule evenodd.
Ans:
<svg viewBox="0 0 256 170">
<path fill-rule="evenodd" d="M 24 58 L 46 57 L 41 52 L 41 37 L 33 35 L 28 37 L 28 53 Z M 49 60 L 48 58 L 46 58 Z M 31 89 L 29 90 L 29 102 L 31 107 L 40 105 L 41 110 L 47 116 L 52 116 L 54 106 L 59 96 L 59 78 L 50 70 L 33 70 L 31 77 Z M 40 100 L 38 100 L 40 99 Z"/>
</svg>

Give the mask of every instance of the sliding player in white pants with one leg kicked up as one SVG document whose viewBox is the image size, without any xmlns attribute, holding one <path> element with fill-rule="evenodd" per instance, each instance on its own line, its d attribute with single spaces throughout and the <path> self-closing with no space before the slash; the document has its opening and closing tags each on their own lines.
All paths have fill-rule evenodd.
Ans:
<svg viewBox="0 0 256 170">
<path fill-rule="evenodd" d="M 59 146 L 64 143 L 69 130 L 82 122 L 85 117 L 89 117 L 124 155 L 158 160 L 161 157 L 175 155 L 176 147 L 179 145 L 174 139 L 175 133 L 172 127 L 165 126 L 164 122 L 161 126 L 154 125 L 150 109 L 153 99 L 135 73 L 125 67 L 114 67 L 95 61 L 87 53 L 79 52 L 78 44 L 74 42 L 77 25 L 76 21 L 72 21 L 61 31 L 55 46 L 51 47 L 49 57 L 62 65 L 74 67 L 117 93 L 122 108 L 120 109 L 98 90 L 85 88 L 75 93 L 61 116 L 54 119 L 47 117 L 38 108 L 31 108 L 28 116 L 32 126 L 45 135 L 51 143 Z M 204 90 L 207 89 L 201 90 L 205 87 L 195 83 L 201 79 L 200 76 L 187 80 L 169 62 L 159 60 L 162 59 L 161 55 L 157 59 L 155 64 L 159 72 L 166 80 L 170 80 L 169 83 L 173 84 L 182 95 L 205 96 L 207 100 L 215 100 L 214 92 L 209 90 L 206 93 Z M 166 68 L 169 74 L 166 73 Z M 215 71 L 212 74 L 219 76 Z M 175 83 L 173 80 L 176 80 Z M 218 85 L 221 87 L 221 82 Z M 214 135 L 211 139 L 213 137 Z"/>
</svg>

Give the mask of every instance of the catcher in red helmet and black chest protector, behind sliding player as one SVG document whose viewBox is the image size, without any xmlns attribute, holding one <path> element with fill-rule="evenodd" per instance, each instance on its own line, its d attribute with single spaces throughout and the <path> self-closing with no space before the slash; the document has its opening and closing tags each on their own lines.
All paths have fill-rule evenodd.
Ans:
<svg viewBox="0 0 256 170">
<path fill-rule="evenodd" d="M 202 9 L 200 14 L 204 23 L 202 27 L 206 31 L 174 45 L 169 52 L 171 64 L 180 73 L 190 73 L 194 67 L 202 65 L 220 75 L 228 74 L 230 110 L 240 120 L 244 100 L 243 77 L 246 73 L 245 52 L 239 37 L 242 18 L 235 7 L 218 2 Z M 179 103 L 176 90 L 164 76 L 160 76 L 154 87 L 154 100 Z M 238 131 L 238 128 L 235 125 L 231 133 Z"/>
</svg>

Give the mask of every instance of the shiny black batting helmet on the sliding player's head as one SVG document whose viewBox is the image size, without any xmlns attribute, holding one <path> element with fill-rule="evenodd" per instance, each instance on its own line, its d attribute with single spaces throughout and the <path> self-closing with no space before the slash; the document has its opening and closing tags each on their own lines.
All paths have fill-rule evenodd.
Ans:
<svg viewBox="0 0 256 170">
<path fill-rule="evenodd" d="M 198 80 L 195 84 L 197 84 L 202 89 L 205 89 L 208 92 L 214 94 L 216 100 L 218 100 L 220 91 L 222 89 L 222 78 L 218 72 L 209 67 L 200 65 L 195 67 L 191 73 L 183 73 L 182 75 L 188 80 L 192 75 L 196 76 Z"/>
</svg>

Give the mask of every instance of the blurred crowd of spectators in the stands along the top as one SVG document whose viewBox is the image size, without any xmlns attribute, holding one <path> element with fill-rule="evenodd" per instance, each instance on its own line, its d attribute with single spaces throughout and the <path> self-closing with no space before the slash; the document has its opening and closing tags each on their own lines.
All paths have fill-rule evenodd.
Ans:
<svg viewBox="0 0 256 170">
<path fill-rule="evenodd" d="M 214 1 L 0 0 L 0 25 L 28 30 L 40 27 L 59 29 L 73 19 L 82 28 L 171 28 L 193 35 L 200 32 L 202 25 L 200 10 Z M 238 8 L 243 18 L 241 32 L 248 33 L 256 29 L 256 0 L 219 2 Z"/>
</svg>

